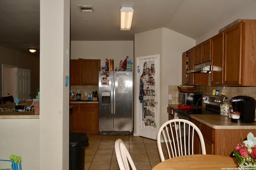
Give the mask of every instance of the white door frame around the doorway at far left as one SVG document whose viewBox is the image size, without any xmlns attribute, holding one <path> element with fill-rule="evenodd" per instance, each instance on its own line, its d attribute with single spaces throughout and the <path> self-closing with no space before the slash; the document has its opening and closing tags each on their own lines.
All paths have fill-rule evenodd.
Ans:
<svg viewBox="0 0 256 170">
<path fill-rule="evenodd" d="M 2 96 L 4 96 L 4 68 L 10 68 L 10 95 L 14 98 L 18 97 L 18 82 L 17 82 L 17 66 L 2 64 Z"/>
</svg>

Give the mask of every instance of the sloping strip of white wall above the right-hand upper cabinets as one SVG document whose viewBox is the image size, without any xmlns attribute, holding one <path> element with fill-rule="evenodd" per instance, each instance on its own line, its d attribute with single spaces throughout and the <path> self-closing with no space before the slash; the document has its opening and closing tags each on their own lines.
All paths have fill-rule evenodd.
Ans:
<svg viewBox="0 0 256 170">
<path fill-rule="evenodd" d="M 256 20 L 256 3 L 252 4 L 251 6 L 244 9 L 242 12 L 234 15 L 232 18 L 228 19 L 226 22 L 216 25 L 216 28 L 209 31 L 202 37 L 196 39 L 196 44 L 200 44 L 203 41 L 206 41 L 207 39 L 213 37 L 214 35 L 217 35 L 219 33 L 219 30 L 225 27 L 226 25 L 238 20 L 238 19 L 248 19 L 248 20 Z"/>
</svg>

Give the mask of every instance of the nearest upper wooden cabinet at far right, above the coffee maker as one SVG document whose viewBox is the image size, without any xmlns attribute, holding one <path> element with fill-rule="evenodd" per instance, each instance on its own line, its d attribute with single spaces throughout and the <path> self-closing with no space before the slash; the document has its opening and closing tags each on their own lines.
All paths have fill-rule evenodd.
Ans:
<svg viewBox="0 0 256 170">
<path fill-rule="evenodd" d="M 241 21 L 219 36 L 224 37 L 222 75 L 214 71 L 212 78 L 222 77 L 224 86 L 256 86 L 256 21 Z M 214 57 L 213 60 L 220 59 L 217 55 Z M 213 67 L 215 64 L 217 62 L 212 63 Z"/>
</svg>

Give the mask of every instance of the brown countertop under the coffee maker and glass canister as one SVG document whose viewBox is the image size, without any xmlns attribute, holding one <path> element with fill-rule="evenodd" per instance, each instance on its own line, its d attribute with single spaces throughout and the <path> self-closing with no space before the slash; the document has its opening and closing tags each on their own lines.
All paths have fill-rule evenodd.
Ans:
<svg viewBox="0 0 256 170">
<path fill-rule="evenodd" d="M 205 125 L 213 129 L 256 129 L 256 122 L 254 123 L 234 123 L 228 116 L 222 115 L 190 115 Z"/>
</svg>

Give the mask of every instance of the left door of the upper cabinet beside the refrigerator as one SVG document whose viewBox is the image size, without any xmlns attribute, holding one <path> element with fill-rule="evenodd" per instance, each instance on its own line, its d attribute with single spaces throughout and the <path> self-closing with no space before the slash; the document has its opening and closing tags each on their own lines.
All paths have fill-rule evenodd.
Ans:
<svg viewBox="0 0 256 170">
<path fill-rule="evenodd" d="M 70 85 L 80 85 L 80 64 L 79 60 L 70 60 Z"/>
</svg>

